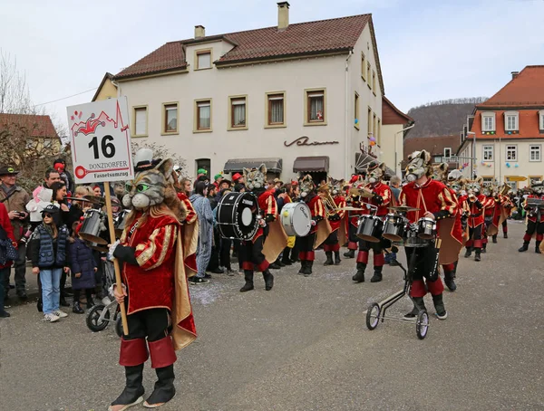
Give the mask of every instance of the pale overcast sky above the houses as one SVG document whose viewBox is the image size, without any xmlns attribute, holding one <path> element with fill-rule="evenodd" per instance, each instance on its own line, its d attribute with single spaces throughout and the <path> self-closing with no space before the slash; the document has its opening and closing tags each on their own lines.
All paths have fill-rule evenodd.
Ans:
<svg viewBox="0 0 544 411">
<path fill-rule="evenodd" d="M 544 64 L 544 0 L 290 0 L 290 23 L 372 13 L 385 95 L 401 110 L 490 97 L 510 72 Z M 105 72 L 161 44 L 277 24 L 276 0 L 0 0 L 0 48 L 16 57 L 35 104 L 95 89 Z M 94 90 L 47 104 L 66 106 Z"/>
</svg>

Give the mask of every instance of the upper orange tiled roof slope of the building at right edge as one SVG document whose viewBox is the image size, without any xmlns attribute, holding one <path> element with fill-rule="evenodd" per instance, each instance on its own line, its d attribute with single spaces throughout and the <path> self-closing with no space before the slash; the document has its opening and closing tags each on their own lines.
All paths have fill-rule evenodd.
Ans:
<svg viewBox="0 0 544 411">
<path fill-rule="evenodd" d="M 544 65 L 533 65 L 525 67 L 491 99 L 476 108 L 540 106 L 544 106 Z"/>
</svg>

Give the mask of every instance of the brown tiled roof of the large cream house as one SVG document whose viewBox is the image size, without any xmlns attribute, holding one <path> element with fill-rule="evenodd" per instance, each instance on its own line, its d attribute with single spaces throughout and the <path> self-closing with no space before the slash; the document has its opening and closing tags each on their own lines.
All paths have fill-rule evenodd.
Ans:
<svg viewBox="0 0 544 411">
<path fill-rule="evenodd" d="M 382 90 L 384 90 L 384 81 L 374 39 L 372 14 L 289 24 L 285 30 L 277 30 L 277 27 L 273 26 L 245 32 L 206 36 L 201 39 L 170 42 L 122 70 L 115 78 L 128 79 L 141 75 L 184 70 L 187 68 L 185 45 L 219 39 L 232 43 L 234 47 L 215 62 L 217 66 L 322 53 L 347 53 L 355 46 L 366 24 L 370 24 L 377 72 Z"/>
</svg>

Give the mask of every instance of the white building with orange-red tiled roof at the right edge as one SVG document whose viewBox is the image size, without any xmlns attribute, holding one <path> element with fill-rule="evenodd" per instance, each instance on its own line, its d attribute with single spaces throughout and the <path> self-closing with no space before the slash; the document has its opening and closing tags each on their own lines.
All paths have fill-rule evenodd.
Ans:
<svg viewBox="0 0 544 411">
<path fill-rule="evenodd" d="M 514 189 L 542 181 L 544 66 L 512 72 L 510 82 L 476 106 L 468 129 L 458 149 L 460 164 L 468 165 L 465 177 L 473 166 L 484 181 L 506 182 Z"/>
</svg>

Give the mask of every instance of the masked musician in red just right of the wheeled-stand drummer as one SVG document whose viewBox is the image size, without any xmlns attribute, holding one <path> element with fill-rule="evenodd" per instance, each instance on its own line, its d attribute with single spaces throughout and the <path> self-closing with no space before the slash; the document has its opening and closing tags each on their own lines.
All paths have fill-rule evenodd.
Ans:
<svg viewBox="0 0 544 411">
<path fill-rule="evenodd" d="M 484 225 L 483 213 L 487 206 L 490 206 L 486 196 L 480 193 L 483 178 L 467 183 L 468 196 L 463 203 L 463 209 L 468 210 L 469 239 L 467 240 L 465 258 L 475 251 L 474 261 L 481 261 L 481 247 L 483 246 L 482 231 Z"/>
</svg>

